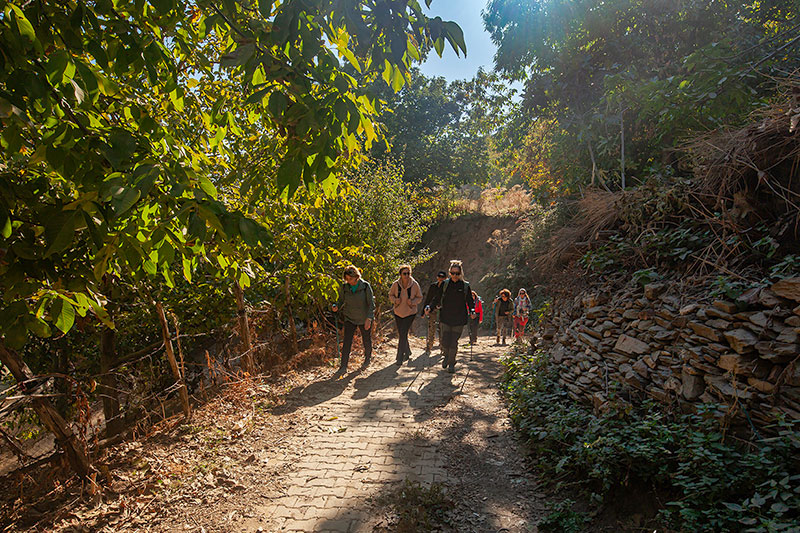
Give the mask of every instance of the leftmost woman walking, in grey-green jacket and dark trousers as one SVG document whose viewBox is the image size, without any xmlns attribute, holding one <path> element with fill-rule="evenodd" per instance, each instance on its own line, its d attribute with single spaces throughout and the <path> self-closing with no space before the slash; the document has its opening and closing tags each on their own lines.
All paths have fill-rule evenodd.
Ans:
<svg viewBox="0 0 800 533">
<path fill-rule="evenodd" d="M 375 297 L 372 286 L 361 279 L 361 272 L 353 265 L 344 269 L 344 283 L 339 287 L 339 299 L 333 304 L 333 312 L 342 312 L 344 319 L 344 340 L 342 341 L 342 361 L 336 375 L 347 372 L 350 361 L 350 348 L 353 345 L 353 334 L 356 328 L 361 330 L 364 342 L 364 367 L 369 364 L 372 355 L 372 335 L 370 329 L 375 319 Z"/>
</svg>

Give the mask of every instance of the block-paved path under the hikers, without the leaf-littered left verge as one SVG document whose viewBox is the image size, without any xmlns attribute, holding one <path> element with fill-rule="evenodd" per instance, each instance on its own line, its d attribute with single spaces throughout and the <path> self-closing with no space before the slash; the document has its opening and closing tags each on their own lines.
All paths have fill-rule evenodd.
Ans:
<svg viewBox="0 0 800 533">
<path fill-rule="evenodd" d="M 382 531 L 375 498 L 408 479 L 447 487 L 463 518 L 455 530 L 535 531 L 537 495 L 497 394 L 502 351 L 492 340 L 470 360 L 462 338 L 455 374 L 413 340 L 401 367 L 384 346 L 369 368 L 351 363 L 344 378 L 293 393 L 274 414 L 300 410 L 312 424 L 270 459 L 277 488 L 244 528 Z"/>
</svg>

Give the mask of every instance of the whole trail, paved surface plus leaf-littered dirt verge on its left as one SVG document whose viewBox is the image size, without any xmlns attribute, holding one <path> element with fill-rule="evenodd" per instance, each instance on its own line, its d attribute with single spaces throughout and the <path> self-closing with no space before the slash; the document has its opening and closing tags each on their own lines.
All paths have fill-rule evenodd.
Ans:
<svg viewBox="0 0 800 533">
<path fill-rule="evenodd" d="M 501 348 L 481 337 L 470 356 L 465 342 L 455 374 L 416 338 L 411 361 L 398 368 L 392 341 L 368 368 L 351 363 L 338 380 L 328 369 L 266 412 L 237 415 L 230 405 L 212 415 L 216 428 L 178 427 L 157 454 L 158 442 L 145 443 L 143 468 L 169 464 L 178 474 L 152 500 L 129 502 L 86 530 L 398 531 L 390 502 L 408 480 L 445 488 L 449 510 L 436 531 L 536 531 L 544 498 L 496 386 Z M 84 525 L 86 513 L 78 514 Z M 79 531 L 68 527 L 76 522 L 57 529 Z"/>
</svg>

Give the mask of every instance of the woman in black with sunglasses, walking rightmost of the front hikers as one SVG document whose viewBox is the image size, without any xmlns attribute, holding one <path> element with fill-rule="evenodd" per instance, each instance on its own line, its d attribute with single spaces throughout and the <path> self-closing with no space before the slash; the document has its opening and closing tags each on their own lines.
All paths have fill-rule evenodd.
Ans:
<svg viewBox="0 0 800 533">
<path fill-rule="evenodd" d="M 450 261 L 450 279 L 442 284 L 441 310 L 439 320 L 442 323 L 440 344 L 442 345 L 442 368 L 451 374 L 455 372 L 458 339 L 467 325 L 467 320 L 475 318 L 475 301 L 472 289 L 464 281 L 464 270 L 461 261 Z"/>
</svg>

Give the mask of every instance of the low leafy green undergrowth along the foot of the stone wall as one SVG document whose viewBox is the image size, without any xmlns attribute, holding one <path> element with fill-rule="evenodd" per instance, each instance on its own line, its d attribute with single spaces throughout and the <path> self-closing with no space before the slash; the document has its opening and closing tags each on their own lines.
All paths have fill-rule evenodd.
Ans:
<svg viewBox="0 0 800 533">
<path fill-rule="evenodd" d="M 656 520 L 674 531 L 800 530 L 800 434 L 788 423 L 744 443 L 705 416 L 716 406 L 676 414 L 612 398 L 598 414 L 558 385 L 545 354 L 512 353 L 504 364 L 512 420 L 552 489 L 580 487 L 596 512 L 622 489 L 653 491 L 663 502 Z M 582 524 L 567 508 L 546 522 L 550 531 Z"/>
</svg>

